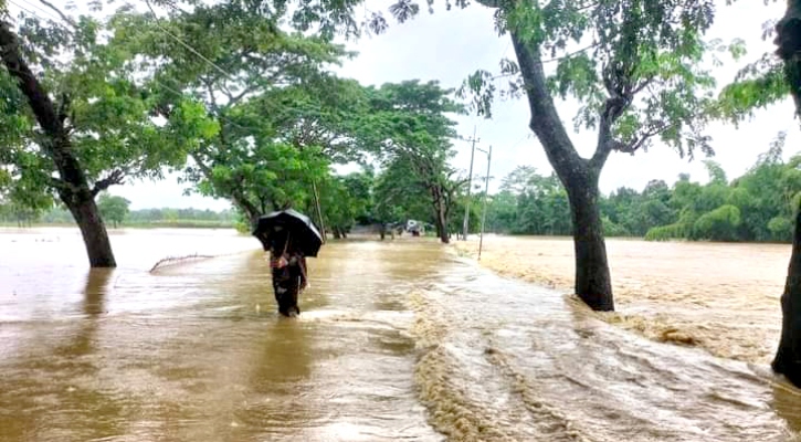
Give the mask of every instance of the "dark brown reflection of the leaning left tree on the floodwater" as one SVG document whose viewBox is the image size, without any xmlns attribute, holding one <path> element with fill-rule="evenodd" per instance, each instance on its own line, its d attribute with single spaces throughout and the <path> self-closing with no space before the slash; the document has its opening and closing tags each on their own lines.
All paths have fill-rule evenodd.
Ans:
<svg viewBox="0 0 801 442">
<path fill-rule="evenodd" d="M 113 274 L 113 270 L 87 273 L 80 304 L 85 316 L 52 327 L 25 324 L 21 328 L 22 333 L 33 332 L 34 338 L 25 344 L 24 356 L 3 365 L 0 381 L 4 392 L 0 408 L 21 412 L 0 418 L 0 440 L 14 440 L 17 434 L 30 441 L 93 440 L 120 431 L 120 404 L 113 394 L 84 382 L 102 370 L 102 361 L 93 354 L 97 351 L 99 315 Z M 50 406 L 63 412 L 41 412 Z M 75 421 L 92 424 L 74 425 Z"/>
</svg>

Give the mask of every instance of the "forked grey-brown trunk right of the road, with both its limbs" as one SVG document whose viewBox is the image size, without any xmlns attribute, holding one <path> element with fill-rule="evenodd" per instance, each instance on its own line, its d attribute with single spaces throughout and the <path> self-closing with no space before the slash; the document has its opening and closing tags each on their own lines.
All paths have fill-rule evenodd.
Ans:
<svg viewBox="0 0 801 442">
<path fill-rule="evenodd" d="M 573 148 L 548 91 L 539 48 L 524 43 L 514 30 L 509 33 L 526 85 L 531 113 L 529 126 L 570 199 L 576 250 L 576 294 L 593 309 L 613 311 L 614 298 L 598 206 L 598 178 L 611 151 L 611 125 L 622 113 L 621 104 L 608 99 L 599 122 L 596 154 L 591 159 L 581 158 Z"/>
</svg>

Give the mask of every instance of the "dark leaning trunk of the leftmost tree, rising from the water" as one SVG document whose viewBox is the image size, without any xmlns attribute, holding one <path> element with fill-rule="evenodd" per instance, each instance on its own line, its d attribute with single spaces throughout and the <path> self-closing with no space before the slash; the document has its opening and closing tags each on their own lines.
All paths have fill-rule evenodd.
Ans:
<svg viewBox="0 0 801 442">
<path fill-rule="evenodd" d="M 48 137 L 41 147 L 53 159 L 59 171 L 61 179 L 54 180 L 54 186 L 81 229 L 89 264 L 93 267 L 115 267 L 117 264 L 112 244 L 94 197 L 120 177 L 98 181 L 89 189 L 86 175 L 72 151 L 70 134 L 64 125 L 68 101 L 64 97 L 56 112 L 53 101 L 22 59 L 17 35 L 7 22 L 0 23 L 0 57 L 8 72 L 17 77 L 20 91 L 28 98 L 36 122 Z"/>
</svg>

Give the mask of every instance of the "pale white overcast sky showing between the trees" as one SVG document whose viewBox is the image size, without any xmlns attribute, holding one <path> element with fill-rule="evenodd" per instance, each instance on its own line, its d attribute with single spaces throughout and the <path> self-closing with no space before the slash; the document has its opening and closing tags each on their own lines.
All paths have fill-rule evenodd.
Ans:
<svg viewBox="0 0 801 442">
<path fill-rule="evenodd" d="M 19 0 L 17 0 L 20 2 Z M 21 2 L 34 3 L 35 0 Z M 762 41 L 762 24 L 783 14 L 783 2 L 771 2 L 765 6 L 761 1 L 741 1 L 727 7 L 720 1 L 716 24 L 708 38 L 731 41 L 735 38 L 746 40 L 748 55 L 739 63 L 729 62 L 726 67 L 718 69 L 716 75 L 725 83 L 734 78 L 737 70 L 758 59 L 762 53 L 773 50 L 770 41 Z M 373 10 L 384 10 L 390 1 L 371 1 L 368 6 Z M 424 4 L 424 2 L 423 2 Z M 13 6 L 13 4 L 12 4 Z M 422 8 L 424 9 L 424 8 Z M 444 11 L 440 7 L 434 14 L 421 14 L 404 24 L 390 20 L 390 29 L 378 36 L 363 38 L 351 43 L 350 48 L 359 55 L 346 62 L 337 71 L 342 76 L 360 81 L 362 84 L 380 85 L 386 82 L 400 82 L 419 78 L 421 81 L 439 80 L 443 85 L 457 87 L 462 81 L 477 69 L 498 71 L 498 61 L 514 57 L 508 38 L 500 38 L 494 31 L 492 11 L 477 4 L 465 10 Z M 558 104 L 558 109 L 568 130 L 572 130 L 572 117 L 576 106 L 567 103 Z M 525 99 L 499 101 L 494 105 L 493 119 L 487 120 L 474 116 L 459 117 L 459 131 L 468 137 L 477 127 L 478 147 L 486 149 L 493 146 L 491 191 L 497 188 L 500 179 L 520 165 L 534 166 L 549 172 L 548 160 L 536 138 L 530 135 L 528 122 L 530 115 Z M 793 118 L 793 106 L 790 99 L 761 112 L 739 129 L 731 125 L 716 124 L 708 128 L 713 137 L 713 146 L 718 161 L 729 179 L 741 175 L 753 164 L 757 156 L 768 149 L 770 141 L 780 130 L 788 131 L 786 157 L 799 150 L 801 134 L 798 122 Z M 594 149 L 596 134 L 582 133 L 573 135 L 573 141 L 583 156 L 591 155 Z M 470 144 L 456 141 L 457 155 L 454 166 L 466 170 L 470 165 Z M 601 190 L 612 191 L 621 186 L 641 190 L 651 179 L 663 179 L 673 183 L 678 173 L 688 172 L 692 178 L 706 181 L 706 170 L 700 160 L 682 159 L 666 146 L 656 145 L 647 152 L 634 156 L 613 152 L 601 176 Z M 474 175 L 483 176 L 486 171 L 486 156 L 476 152 Z M 199 209 L 222 209 L 229 207 L 228 201 L 213 200 L 200 196 L 185 197 L 186 185 L 179 185 L 176 177 L 160 182 L 130 182 L 123 187 L 114 187 L 112 192 L 131 201 L 131 209 L 150 207 L 194 207 Z"/>
</svg>

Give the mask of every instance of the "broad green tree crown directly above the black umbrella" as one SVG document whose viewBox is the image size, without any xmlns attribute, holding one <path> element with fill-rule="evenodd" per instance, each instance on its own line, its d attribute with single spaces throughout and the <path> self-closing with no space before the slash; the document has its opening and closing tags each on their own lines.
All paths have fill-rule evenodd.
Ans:
<svg viewBox="0 0 801 442">
<path fill-rule="evenodd" d="M 270 210 L 306 207 L 331 162 L 355 159 L 350 113 L 362 98 L 358 83 L 326 71 L 347 55 L 341 46 L 325 35 L 282 31 L 286 11 L 255 3 L 169 9 L 167 19 L 151 10 L 118 21 L 129 50 L 143 56 L 160 114 L 197 96 L 219 127 L 190 150 L 185 180 L 231 199 L 250 222 Z M 306 21 L 328 20 L 328 11 L 307 7 L 314 17 Z"/>
</svg>

